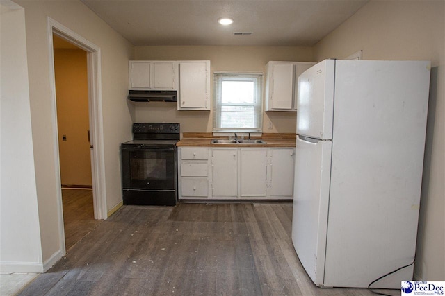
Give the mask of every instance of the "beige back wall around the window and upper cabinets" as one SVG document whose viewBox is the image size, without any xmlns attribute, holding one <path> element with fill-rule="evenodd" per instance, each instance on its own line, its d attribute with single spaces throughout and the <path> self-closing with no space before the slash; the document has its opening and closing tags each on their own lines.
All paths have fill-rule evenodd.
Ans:
<svg viewBox="0 0 445 296">
<path fill-rule="evenodd" d="M 210 60 L 213 73 L 265 72 L 270 60 L 312 62 L 314 57 L 311 47 L 297 46 L 136 46 L 135 60 Z M 213 128 L 212 111 L 177 111 L 175 103 L 133 104 L 138 122 L 178 122 L 181 132 L 211 132 Z M 273 123 L 271 130 L 267 128 L 269 121 Z M 263 125 L 263 132 L 295 132 L 296 113 L 264 112 Z"/>
</svg>

